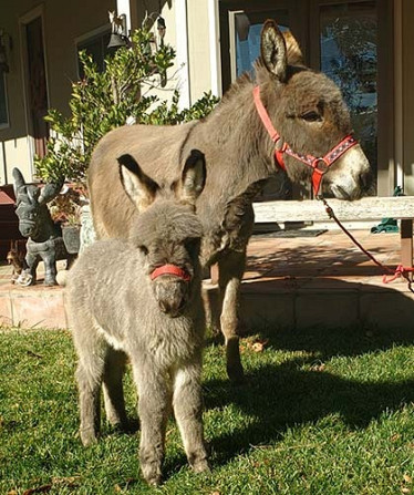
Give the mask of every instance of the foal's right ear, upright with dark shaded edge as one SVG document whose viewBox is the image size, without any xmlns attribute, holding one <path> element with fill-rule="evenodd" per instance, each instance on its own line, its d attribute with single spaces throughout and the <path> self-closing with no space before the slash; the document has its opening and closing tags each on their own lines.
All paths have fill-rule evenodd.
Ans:
<svg viewBox="0 0 414 495">
<path fill-rule="evenodd" d="M 198 149 L 192 149 L 183 168 L 179 199 L 195 206 L 206 185 L 206 159 Z"/>
</svg>

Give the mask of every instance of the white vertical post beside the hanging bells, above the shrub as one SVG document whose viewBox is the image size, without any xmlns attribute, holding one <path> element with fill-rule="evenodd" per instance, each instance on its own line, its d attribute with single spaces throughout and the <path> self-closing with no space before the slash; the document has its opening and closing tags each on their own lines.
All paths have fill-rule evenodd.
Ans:
<svg viewBox="0 0 414 495">
<path fill-rule="evenodd" d="M 177 44 L 177 68 L 178 68 L 178 90 L 180 110 L 190 106 L 189 91 L 189 68 L 188 68 L 188 23 L 187 23 L 187 0 L 176 0 L 175 3 L 175 24 L 176 24 L 176 44 Z"/>
</svg>

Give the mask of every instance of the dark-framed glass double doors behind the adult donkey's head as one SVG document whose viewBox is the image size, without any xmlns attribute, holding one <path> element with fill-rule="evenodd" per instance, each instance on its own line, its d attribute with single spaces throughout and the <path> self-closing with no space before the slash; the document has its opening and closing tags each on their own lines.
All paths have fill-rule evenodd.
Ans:
<svg viewBox="0 0 414 495">
<path fill-rule="evenodd" d="M 376 178 L 379 173 L 382 174 L 381 169 L 379 172 L 382 167 L 385 173 L 381 176 L 386 182 L 387 165 L 379 165 L 379 156 L 391 156 L 392 143 L 377 140 L 377 135 L 387 132 L 385 123 L 392 117 L 392 104 L 387 103 L 392 72 L 390 63 L 384 62 L 384 53 L 390 51 L 392 43 L 392 2 L 219 0 L 219 7 L 224 92 L 241 73 L 252 72 L 260 53 L 261 25 L 266 19 L 275 19 L 282 30 L 292 32 L 307 63 L 339 85 L 373 176 Z M 379 93 L 383 96 L 379 97 Z M 309 194 L 307 186 L 293 190 L 294 198 L 308 197 Z"/>
</svg>

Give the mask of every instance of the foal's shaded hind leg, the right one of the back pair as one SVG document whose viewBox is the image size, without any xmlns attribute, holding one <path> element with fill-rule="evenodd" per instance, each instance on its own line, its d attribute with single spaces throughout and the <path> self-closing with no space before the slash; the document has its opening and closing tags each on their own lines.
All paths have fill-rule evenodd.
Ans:
<svg viewBox="0 0 414 495">
<path fill-rule="evenodd" d="M 122 351 L 108 349 L 105 358 L 103 377 L 103 392 L 106 419 L 112 425 L 121 425 L 127 429 L 125 412 L 123 375 L 125 371 L 126 355 Z"/>
</svg>

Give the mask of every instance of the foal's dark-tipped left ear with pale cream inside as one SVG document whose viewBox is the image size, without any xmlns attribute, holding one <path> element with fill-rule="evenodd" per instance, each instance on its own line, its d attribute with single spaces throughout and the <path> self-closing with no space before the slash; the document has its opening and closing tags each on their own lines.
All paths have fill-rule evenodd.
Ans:
<svg viewBox="0 0 414 495">
<path fill-rule="evenodd" d="M 137 207 L 138 212 L 143 212 L 154 202 L 159 186 L 155 181 L 144 174 L 131 155 L 122 155 L 117 161 L 124 190 Z"/>
</svg>

